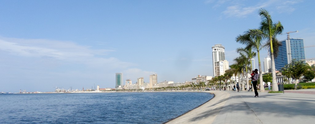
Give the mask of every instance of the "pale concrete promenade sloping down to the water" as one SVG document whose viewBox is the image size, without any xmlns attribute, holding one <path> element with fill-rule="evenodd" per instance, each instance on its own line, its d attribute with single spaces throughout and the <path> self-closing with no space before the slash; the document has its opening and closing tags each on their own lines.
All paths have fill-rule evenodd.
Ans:
<svg viewBox="0 0 315 124">
<path fill-rule="evenodd" d="M 167 123 L 182 124 L 307 124 L 315 123 L 315 89 L 284 93 L 203 91 L 215 97 Z"/>
</svg>

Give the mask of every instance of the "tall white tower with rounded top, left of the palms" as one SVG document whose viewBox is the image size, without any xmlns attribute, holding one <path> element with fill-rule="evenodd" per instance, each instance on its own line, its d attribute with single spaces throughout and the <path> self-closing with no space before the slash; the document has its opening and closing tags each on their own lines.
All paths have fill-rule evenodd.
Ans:
<svg viewBox="0 0 315 124">
<path fill-rule="evenodd" d="M 212 64 L 213 64 L 213 76 L 219 76 L 221 73 L 218 72 L 220 71 L 220 61 L 225 60 L 225 52 L 224 52 L 224 47 L 221 44 L 215 44 L 215 46 L 212 46 Z M 222 65 L 222 63 L 221 63 Z M 221 70 L 223 71 L 223 70 Z M 225 71 L 225 70 L 224 70 Z M 223 72 L 224 74 L 224 72 Z"/>
</svg>

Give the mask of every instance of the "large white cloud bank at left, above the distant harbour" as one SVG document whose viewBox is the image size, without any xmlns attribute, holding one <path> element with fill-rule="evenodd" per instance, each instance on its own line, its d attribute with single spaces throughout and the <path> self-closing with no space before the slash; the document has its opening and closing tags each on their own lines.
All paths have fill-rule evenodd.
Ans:
<svg viewBox="0 0 315 124">
<path fill-rule="evenodd" d="M 65 41 L 0 37 L 0 50 L 14 56 L 31 57 L 34 60 L 49 59 L 61 63 L 80 63 L 89 67 L 121 69 L 135 65 L 105 56 L 114 50 L 92 49 L 90 46 Z"/>
</svg>

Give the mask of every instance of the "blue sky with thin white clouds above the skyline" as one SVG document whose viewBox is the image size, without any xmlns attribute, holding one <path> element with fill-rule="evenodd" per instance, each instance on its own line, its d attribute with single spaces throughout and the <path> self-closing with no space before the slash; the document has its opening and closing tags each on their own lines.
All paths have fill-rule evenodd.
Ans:
<svg viewBox="0 0 315 124">
<path fill-rule="evenodd" d="M 312 0 L 1 0 L 0 92 L 114 88 L 115 73 L 136 83 L 213 76 L 212 49 L 233 64 L 235 38 L 259 27 L 260 8 L 284 35 L 315 45 Z M 306 59 L 315 47 L 305 48 Z M 267 50 L 260 52 L 261 67 Z M 258 68 L 258 58 L 255 58 Z"/>
</svg>

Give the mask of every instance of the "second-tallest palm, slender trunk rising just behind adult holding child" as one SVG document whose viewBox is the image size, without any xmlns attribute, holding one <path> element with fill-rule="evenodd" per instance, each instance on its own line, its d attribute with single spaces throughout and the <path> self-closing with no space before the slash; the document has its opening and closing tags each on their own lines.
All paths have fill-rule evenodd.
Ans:
<svg viewBox="0 0 315 124">
<path fill-rule="evenodd" d="M 257 51 L 260 86 L 263 86 L 263 82 L 262 82 L 262 70 L 261 70 L 259 52 L 262 48 L 265 47 L 265 45 L 262 43 L 263 37 L 264 37 L 264 33 L 259 29 L 249 29 L 243 35 L 239 35 L 238 37 L 236 37 L 236 42 L 240 42 L 246 45 L 246 48 L 252 48 Z M 263 91 L 265 91 L 265 88 L 260 88 L 260 92 L 263 92 Z"/>
</svg>

